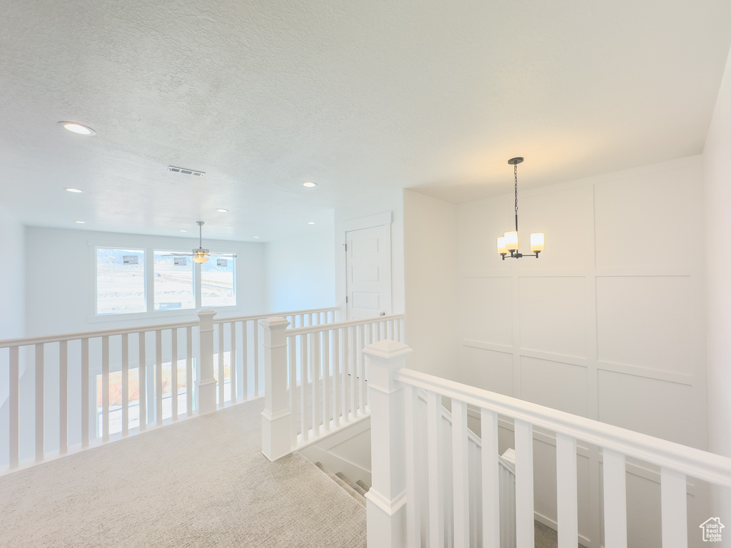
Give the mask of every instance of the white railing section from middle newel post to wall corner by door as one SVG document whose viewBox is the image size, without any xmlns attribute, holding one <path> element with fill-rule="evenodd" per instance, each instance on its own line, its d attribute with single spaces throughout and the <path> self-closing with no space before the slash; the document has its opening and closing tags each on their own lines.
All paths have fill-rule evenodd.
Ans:
<svg viewBox="0 0 731 548">
<path fill-rule="evenodd" d="M 363 348 L 405 335 L 403 314 L 295 329 L 284 318 L 261 324 L 265 394 L 272 395 L 265 398 L 262 452 L 270 460 L 369 416 Z"/>
</svg>

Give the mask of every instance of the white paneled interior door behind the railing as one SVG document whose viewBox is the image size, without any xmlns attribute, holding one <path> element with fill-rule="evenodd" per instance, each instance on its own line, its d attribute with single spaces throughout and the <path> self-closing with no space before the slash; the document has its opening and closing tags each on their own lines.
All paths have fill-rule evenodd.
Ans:
<svg viewBox="0 0 731 548">
<path fill-rule="evenodd" d="M 348 319 L 391 313 L 391 231 L 389 225 L 345 233 Z"/>
</svg>

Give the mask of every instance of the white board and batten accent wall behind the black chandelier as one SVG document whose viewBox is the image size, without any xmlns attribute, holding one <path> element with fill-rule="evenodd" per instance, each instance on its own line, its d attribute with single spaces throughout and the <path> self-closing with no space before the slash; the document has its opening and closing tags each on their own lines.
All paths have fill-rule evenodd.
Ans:
<svg viewBox="0 0 731 548">
<path fill-rule="evenodd" d="M 701 157 L 523 191 L 519 206 L 521 248 L 545 232 L 540 259 L 496 252 L 512 196 L 458 205 L 452 378 L 706 449 Z M 555 440 L 544 437 L 534 449 L 536 509 L 550 523 Z M 600 465 L 595 448 L 579 448 L 580 533 L 592 547 Z M 642 506 L 659 496 L 659 475 L 632 463 L 628 472 L 632 544 L 659 545 L 659 516 Z"/>
</svg>

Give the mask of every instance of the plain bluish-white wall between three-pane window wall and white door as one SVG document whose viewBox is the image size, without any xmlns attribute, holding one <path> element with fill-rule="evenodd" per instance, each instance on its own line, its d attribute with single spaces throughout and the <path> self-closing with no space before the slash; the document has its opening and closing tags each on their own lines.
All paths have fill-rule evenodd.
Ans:
<svg viewBox="0 0 731 548">
<path fill-rule="evenodd" d="M 265 245 L 265 312 L 335 305 L 334 213 Z"/>
</svg>

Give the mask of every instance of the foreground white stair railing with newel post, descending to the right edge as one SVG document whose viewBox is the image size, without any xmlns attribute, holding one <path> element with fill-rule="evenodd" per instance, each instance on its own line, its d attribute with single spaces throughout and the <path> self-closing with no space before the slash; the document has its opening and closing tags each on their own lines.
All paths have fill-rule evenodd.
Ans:
<svg viewBox="0 0 731 548">
<path fill-rule="evenodd" d="M 533 428 L 556 433 L 558 547 L 574 548 L 577 532 L 576 442 L 599 446 L 604 457 L 605 547 L 626 548 L 626 457 L 661 470 L 662 546 L 687 546 L 686 477 L 731 487 L 731 459 L 624 428 L 538 406 L 405 368 L 408 346 L 382 340 L 365 349 L 371 372 L 373 486 L 368 491 L 368 544 L 378 547 L 497 548 L 500 544 L 498 415 L 515 422 L 515 528 L 518 548 L 534 546 Z M 427 397 L 420 427 L 418 390 Z M 452 403 L 451 439 L 444 439 L 442 398 Z M 481 527 L 470 522 L 467 406 L 480 410 Z M 426 438 L 426 454 L 420 450 Z M 442 446 L 452 447 L 452 501 L 444 490 Z M 425 476 L 427 482 L 419 479 Z M 428 522 L 420 523 L 420 506 Z M 450 504 L 451 508 L 447 506 Z M 473 503 L 474 504 L 474 503 Z M 445 530 L 450 531 L 449 535 Z M 482 538 L 475 531 L 482 530 Z"/>
</svg>

